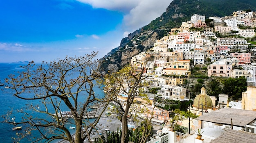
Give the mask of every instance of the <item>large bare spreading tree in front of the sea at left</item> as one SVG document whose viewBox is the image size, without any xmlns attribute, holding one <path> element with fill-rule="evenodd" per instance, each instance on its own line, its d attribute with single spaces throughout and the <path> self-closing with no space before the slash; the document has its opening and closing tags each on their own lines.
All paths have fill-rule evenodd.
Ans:
<svg viewBox="0 0 256 143">
<path fill-rule="evenodd" d="M 5 121 L 9 124 L 28 126 L 16 139 L 27 138 L 36 130 L 41 137 L 31 139 L 33 143 L 56 139 L 70 143 L 83 143 L 86 138 L 90 141 L 90 134 L 97 127 L 108 104 L 105 97 L 99 98 L 95 91 L 103 83 L 96 56 L 97 52 L 93 52 L 40 65 L 32 61 L 22 67 L 24 72 L 11 74 L 5 80 L 4 85 L 13 89 L 14 96 L 31 101 L 18 113 L 10 111 L 5 115 Z M 40 103 L 35 104 L 35 100 Z M 94 104 L 101 104 L 103 110 L 89 112 L 88 108 Z M 62 108 L 68 109 L 68 112 L 61 111 Z M 35 112 L 40 117 L 34 116 Z M 17 114 L 23 116 L 20 122 L 16 121 Z M 89 120 L 90 117 L 95 120 Z M 75 137 L 68 130 L 70 125 L 75 126 Z"/>
</svg>

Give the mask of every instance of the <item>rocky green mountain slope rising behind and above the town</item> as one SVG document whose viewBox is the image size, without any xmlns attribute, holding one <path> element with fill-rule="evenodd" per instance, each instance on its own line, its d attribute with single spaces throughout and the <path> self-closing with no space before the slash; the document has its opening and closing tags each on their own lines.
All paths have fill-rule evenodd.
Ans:
<svg viewBox="0 0 256 143">
<path fill-rule="evenodd" d="M 173 0 L 160 17 L 123 38 L 119 47 L 102 58 L 105 72 L 115 72 L 130 62 L 132 56 L 152 48 L 157 39 L 174 27 L 189 21 L 191 15 L 224 17 L 234 11 L 256 11 L 256 0 Z"/>
</svg>

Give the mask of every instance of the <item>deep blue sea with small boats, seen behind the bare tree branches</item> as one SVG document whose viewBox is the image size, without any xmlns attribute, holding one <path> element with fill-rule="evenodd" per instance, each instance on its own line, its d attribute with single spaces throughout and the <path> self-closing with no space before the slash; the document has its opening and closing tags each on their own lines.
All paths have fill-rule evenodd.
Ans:
<svg viewBox="0 0 256 143">
<path fill-rule="evenodd" d="M 22 69 L 20 66 L 27 65 L 27 63 L 0 63 L 0 82 L 4 82 L 5 78 L 8 77 L 10 74 L 17 74 L 17 72 L 22 72 L 24 69 Z M 102 89 L 97 88 L 95 89 L 99 97 L 105 96 Z M 28 93 L 29 94 L 29 93 Z M 30 93 L 32 94 L 32 93 Z M 83 100 L 83 98 L 80 98 L 79 100 Z M 32 101 L 33 104 L 38 104 L 40 106 L 39 101 Z M 7 113 L 10 113 L 10 111 L 18 111 L 25 107 L 26 104 L 31 104 L 31 101 L 25 101 L 22 99 L 19 99 L 15 96 L 13 96 L 13 93 L 11 89 L 4 88 L 4 86 L 0 86 L 0 143 L 16 143 L 14 142 L 13 138 L 16 138 L 16 133 L 22 133 L 25 132 L 23 128 L 25 128 L 27 125 L 21 125 L 22 130 L 12 130 L 14 127 L 13 125 L 4 123 L 4 119 L 7 117 L 5 116 Z M 68 111 L 68 108 L 66 106 L 61 107 L 62 111 Z M 88 109 L 92 110 L 92 109 Z M 42 117 L 40 113 L 31 113 L 34 117 Z M 10 119 L 13 117 L 9 117 Z M 16 115 L 15 117 L 16 121 L 22 120 L 22 115 Z M 92 119 L 93 120 L 93 119 Z M 71 123 L 74 122 L 72 119 L 68 119 Z M 72 125 L 72 124 L 70 124 Z M 67 125 L 69 127 L 70 125 Z M 74 125 L 73 125 L 74 126 Z M 75 133 L 75 130 L 69 129 L 71 134 Z M 40 134 L 38 132 L 31 132 L 31 135 L 29 137 L 25 137 L 22 140 L 19 141 L 19 143 L 31 143 L 32 141 L 30 138 L 40 138 Z M 52 143 L 57 143 L 61 140 L 53 141 Z M 40 141 L 38 141 L 40 143 Z"/>
</svg>

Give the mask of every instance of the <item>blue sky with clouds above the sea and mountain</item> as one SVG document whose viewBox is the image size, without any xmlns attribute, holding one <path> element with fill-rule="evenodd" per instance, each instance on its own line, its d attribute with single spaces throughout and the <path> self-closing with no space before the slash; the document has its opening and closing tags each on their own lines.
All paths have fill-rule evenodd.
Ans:
<svg viewBox="0 0 256 143">
<path fill-rule="evenodd" d="M 1 0 L 0 63 L 99 52 L 159 17 L 172 0 Z"/>
</svg>

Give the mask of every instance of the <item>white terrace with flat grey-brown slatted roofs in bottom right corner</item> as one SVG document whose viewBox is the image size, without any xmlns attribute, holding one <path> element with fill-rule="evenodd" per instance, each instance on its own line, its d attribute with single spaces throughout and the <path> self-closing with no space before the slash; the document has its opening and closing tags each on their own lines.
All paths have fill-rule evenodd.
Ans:
<svg viewBox="0 0 256 143">
<path fill-rule="evenodd" d="M 255 121 L 255 113 L 256 111 L 223 108 L 196 118 L 202 121 L 202 140 L 197 139 L 196 134 L 168 131 L 166 135 L 148 143 L 254 143 L 256 134 L 245 132 L 244 129 Z"/>
</svg>

